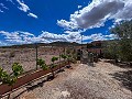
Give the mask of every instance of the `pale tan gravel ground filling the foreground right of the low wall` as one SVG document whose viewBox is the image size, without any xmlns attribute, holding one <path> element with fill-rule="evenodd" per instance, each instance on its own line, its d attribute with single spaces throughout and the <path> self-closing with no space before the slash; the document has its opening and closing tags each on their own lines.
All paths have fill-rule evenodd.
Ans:
<svg viewBox="0 0 132 99">
<path fill-rule="evenodd" d="M 123 85 L 120 73 L 132 72 L 103 61 L 91 65 L 76 64 L 56 74 L 53 80 L 41 79 L 32 88 L 23 88 L 12 94 L 18 99 L 132 99 L 132 87 Z M 132 79 L 132 74 L 128 75 Z M 127 78 L 125 78 L 127 79 Z M 127 80 L 125 80 L 127 81 Z M 132 84 L 132 80 L 128 80 Z"/>
</svg>

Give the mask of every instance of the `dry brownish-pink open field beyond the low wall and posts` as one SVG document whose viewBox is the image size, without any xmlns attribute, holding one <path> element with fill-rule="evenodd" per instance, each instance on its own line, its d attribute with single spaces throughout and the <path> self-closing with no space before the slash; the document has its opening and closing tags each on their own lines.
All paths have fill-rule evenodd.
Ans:
<svg viewBox="0 0 132 99">
<path fill-rule="evenodd" d="M 41 46 L 37 48 L 37 58 L 43 58 L 46 64 L 51 64 L 53 56 L 63 54 L 64 48 L 56 46 Z M 0 48 L 0 66 L 11 73 L 13 63 L 20 63 L 24 72 L 36 68 L 36 48 Z"/>
</svg>

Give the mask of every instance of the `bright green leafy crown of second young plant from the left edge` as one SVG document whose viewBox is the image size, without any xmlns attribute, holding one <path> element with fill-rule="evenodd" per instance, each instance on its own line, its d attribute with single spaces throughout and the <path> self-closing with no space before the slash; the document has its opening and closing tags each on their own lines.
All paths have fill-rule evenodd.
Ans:
<svg viewBox="0 0 132 99">
<path fill-rule="evenodd" d="M 19 63 L 12 65 L 12 70 L 15 77 L 20 76 L 23 73 L 23 68 Z"/>
</svg>

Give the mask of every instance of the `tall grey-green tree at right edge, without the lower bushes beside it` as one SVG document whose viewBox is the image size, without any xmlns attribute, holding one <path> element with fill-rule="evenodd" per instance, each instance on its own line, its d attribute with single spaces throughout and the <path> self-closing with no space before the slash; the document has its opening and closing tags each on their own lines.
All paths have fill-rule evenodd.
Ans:
<svg viewBox="0 0 132 99">
<path fill-rule="evenodd" d="M 123 21 L 111 29 L 119 38 L 120 57 L 122 61 L 132 61 L 132 20 Z"/>
</svg>

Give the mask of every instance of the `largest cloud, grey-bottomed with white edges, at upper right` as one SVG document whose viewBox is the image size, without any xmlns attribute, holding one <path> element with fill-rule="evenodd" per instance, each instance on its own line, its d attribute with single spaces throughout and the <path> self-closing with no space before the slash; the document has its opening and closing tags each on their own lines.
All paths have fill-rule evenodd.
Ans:
<svg viewBox="0 0 132 99">
<path fill-rule="evenodd" d="M 92 29 L 105 25 L 107 20 L 116 22 L 132 19 L 131 0 L 92 0 L 87 7 L 70 14 L 69 21 L 57 20 L 64 29 Z"/>
</svg>

